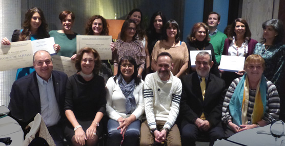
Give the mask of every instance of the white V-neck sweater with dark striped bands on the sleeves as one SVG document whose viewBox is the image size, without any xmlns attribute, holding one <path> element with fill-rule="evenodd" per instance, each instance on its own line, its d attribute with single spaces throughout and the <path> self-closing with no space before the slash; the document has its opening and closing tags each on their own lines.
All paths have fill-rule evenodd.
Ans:
<svg viewBox="0 0 285 146">
<path fill-rule="evenodd" d="M 170 75 L 163 83 L 158 72 L 147 75 L 144 84 L 145 112 L 150 129 L 156 128 L 155 120 L 166 121 L 164 127 L 171 129 L 179 113 L 182 84 L 180 79 Z"/>
</svg>

